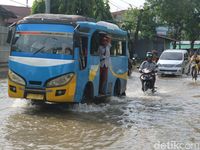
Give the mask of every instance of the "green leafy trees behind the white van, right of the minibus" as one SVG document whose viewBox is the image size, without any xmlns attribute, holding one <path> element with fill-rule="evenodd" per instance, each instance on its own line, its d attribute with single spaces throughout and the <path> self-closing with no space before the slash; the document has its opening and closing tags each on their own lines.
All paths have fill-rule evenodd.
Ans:
<svg viewBox="0 0 200 150">
<path fill-rule="evenodd" d="M 123 21 L 133 45 L 138 38 L 151 39 L 156 27 L 165 26 L 168 37 L 190 40 L 192 48 L 192 43 L 200 40 L 200 0 L 146 0 L 143 9 L 128 9 Z"/>
</svg>

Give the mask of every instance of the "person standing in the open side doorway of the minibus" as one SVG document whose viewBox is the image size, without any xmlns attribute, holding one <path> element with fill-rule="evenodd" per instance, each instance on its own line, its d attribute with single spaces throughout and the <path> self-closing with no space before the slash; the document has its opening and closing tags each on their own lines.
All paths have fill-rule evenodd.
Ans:
<svg viewBox="0 0 200 150">
<path fill-rule="evenodd" d="M 106 82 L 108 79 L 108 67 L 110 63 L 111 37 L 102 34 L 100 38 L 99 55 L 100 55 L 100 84 L 99 94 L 106 95 Z"/>
</svg>

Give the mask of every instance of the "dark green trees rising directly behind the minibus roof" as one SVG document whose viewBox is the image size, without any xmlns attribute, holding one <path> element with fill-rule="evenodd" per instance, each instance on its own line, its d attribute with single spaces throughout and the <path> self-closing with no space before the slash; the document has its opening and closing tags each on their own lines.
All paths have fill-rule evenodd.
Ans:
<svg viewBox="0 0 200 150">
<path fill-rule="evenodd" d="M 35 0 L 32 13 L 44 13 L 44 0 Z M 51 0 L 51 13 L 92 17 L 96 20 L 112 20 L 108 0 Z"/>
</svg>

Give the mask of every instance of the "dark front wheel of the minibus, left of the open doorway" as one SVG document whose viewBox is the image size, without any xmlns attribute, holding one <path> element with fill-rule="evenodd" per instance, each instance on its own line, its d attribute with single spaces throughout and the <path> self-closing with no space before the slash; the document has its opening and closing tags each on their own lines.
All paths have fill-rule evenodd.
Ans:
<svg viewBox="0 0 200 150">
<path fill-rule="evenodd" d="M 81 103 L 92 103 L 94 98 L 94 89 L 92 83 L 85 86 Z"/>
</svg>

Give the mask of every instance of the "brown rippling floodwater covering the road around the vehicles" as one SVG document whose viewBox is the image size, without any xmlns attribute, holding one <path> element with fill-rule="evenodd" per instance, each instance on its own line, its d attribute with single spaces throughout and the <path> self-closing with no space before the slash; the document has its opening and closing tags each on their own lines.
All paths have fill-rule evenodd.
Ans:
<svg viewBox="0 0 200 150">
<path fill-rule="evenodd" d="M 156 86 L 144 94 L 133 73 L 124 98 L 37 106 L 8 98 L 0 79 L 0 149 L 200 150 L 200 81 L 164 77 Z"/>
</svg>

